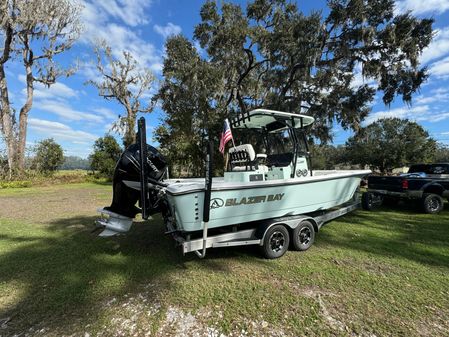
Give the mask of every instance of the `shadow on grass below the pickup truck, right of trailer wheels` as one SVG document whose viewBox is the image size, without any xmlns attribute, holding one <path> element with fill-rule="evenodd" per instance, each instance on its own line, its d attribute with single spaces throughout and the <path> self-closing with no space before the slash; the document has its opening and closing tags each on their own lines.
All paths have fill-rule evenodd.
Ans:
<svg viewBox="0 0 449 337">
<path fill-rule="evenodd" d="M 449 268 L 449 205 L 445 206 L 436 215 L 404 204 L 358 211 L 342 218 L 338 230 L 321 231 L 318 244 Z M 349 231 L 345 222 L 351 223 Z"/>
</svg>

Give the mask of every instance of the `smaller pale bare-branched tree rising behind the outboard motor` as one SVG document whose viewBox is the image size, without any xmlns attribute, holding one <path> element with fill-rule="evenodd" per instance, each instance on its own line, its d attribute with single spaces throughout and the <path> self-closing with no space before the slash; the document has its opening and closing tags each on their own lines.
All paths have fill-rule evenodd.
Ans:
<svg viewBox="0 0 449 337">
<path fill-rule="evenodd" d="M 138 65 L 130 52 L 123 52 L 123 59 L 114 58 L 112 50 L 104 41 L 95 48 L 97 70 L 101 80 L 87 83 L 98 89 L 98 94 L 107 100 L 116 100 L 126 110 L 126 116 L 120 117 L 113 130 L 123 135 L 126 147 L 136 141 L 136 119 L 139 112 L 152 111 L 148 96 L 155 77 L 150 69 Z M 148 100 L 147 103 L 144 100 Z"/>
</svg>

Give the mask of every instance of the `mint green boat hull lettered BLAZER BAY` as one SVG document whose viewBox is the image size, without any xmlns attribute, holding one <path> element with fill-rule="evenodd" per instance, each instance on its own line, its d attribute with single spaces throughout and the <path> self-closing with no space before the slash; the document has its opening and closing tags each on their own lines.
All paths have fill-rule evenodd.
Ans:
<svg viewBox="0 0 449 337">
<path fill-rule="evenodd" d="M 313 177 L 244 185 L 212 180 L 209 228 L 326 210 L 351 200 L 370 171 L 317 171 Z M 167 188 L 176 229 L 203 228 L 204 180 L 181 180 Z"/>
</svg>

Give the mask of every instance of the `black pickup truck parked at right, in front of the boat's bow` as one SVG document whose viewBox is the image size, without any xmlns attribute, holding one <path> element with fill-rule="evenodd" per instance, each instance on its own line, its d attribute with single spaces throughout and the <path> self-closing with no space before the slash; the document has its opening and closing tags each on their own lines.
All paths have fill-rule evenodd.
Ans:
<svg viewBox="0 0 449 337">
<path fill-rule="evenodd" d="M 364 209 L 399 200 L 416 200 L 425 213 L 439 213 L 443 198 L 449 200 L 449 163 L 417 164 L 400 176 L 370 176 L 368 190 L 362 195 Z"/>
</svg>

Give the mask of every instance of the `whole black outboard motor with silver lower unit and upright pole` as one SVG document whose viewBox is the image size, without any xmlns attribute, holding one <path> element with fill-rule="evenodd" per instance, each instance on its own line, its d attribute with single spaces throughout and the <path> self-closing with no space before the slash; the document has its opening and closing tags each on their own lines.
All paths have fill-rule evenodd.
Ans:
<svg viewBox="0 0 449 337">
<path fill-rule="evenodd" d="M 147 219 L 149 215 L 163 211 L 159 192 L 165 186 L 161 181 L 167 163 L 156 148 L 146 144 L 143 118 L 138 126 L 137 143 L 122 153 L 115 166 L 112 204 L 98 210 L 102 217 L 95 224 L 104 229 L 100 236 L 127 232 L 137 213 Z M 140 208 L 136 206 L 137 201 Z"/>
</svg>

